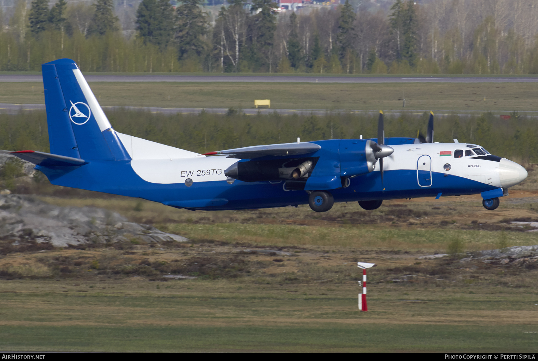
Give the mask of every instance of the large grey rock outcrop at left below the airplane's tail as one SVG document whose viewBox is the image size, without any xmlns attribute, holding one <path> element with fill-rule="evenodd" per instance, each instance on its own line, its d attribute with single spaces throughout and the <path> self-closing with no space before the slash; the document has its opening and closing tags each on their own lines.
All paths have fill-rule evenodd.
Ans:
<svg viewBox="0 0 538 361">
<path fill-rule="evenodd" d="M 93 207 L 58 207 L 32 196 L 0 195 L 0 243 L 6 248 L 185 242 L 149 225 Z"/>
</svg>

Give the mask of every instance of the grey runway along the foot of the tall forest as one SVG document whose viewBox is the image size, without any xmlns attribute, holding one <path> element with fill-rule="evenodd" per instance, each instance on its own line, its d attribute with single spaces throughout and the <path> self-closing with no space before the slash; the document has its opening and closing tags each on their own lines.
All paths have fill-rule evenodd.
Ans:
<svg viewBox="0 0 538 361">
<path fill-rule="evenodd" d="M 536 78 L 388 77 L 290 75 L 84 75 L 88 82 L 243 82 L 243 83 L 538 83 Z M 41 75 L 0 75 L 0 83 L 42 82 Z"/>
</svg>

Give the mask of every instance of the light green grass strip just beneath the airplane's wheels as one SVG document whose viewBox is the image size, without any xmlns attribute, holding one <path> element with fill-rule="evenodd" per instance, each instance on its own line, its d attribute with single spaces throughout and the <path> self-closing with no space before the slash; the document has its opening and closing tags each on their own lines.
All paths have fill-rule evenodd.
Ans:
<svg viewBox="0 0 538 361">
<path fill-rule="evenodd" d="M 332 246 L 386 249 L 447 250 L 452 240 L 459 239 L 466 250 L 496 248 L 502 237 L 512 246 L 536 244 L 533 233 L 487 230 L 460 230 L 450 228 L 405 229 L 390 226 L 350 225 L 341 227 L 256 225 L 220 223 L 215 225 L 178 224 L 161 225 L 167 232 L 177 233 L 192 240 L 248 242 L 274 246 Z"/>
</svg>

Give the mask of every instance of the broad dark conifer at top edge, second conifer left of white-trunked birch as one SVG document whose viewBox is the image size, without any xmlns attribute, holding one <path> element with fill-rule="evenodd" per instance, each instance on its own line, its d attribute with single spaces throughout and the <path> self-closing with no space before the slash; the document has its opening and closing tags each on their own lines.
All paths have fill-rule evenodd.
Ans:
<svg viewBox="0 0 538 361">
<path fill-rule="evenodd" d="M 167 0 L 144 0 L 138 5 L 136 24 L 144 44 L 150 42 L 162 49 L 174 34 L 174 9 Z"/>
</svg>

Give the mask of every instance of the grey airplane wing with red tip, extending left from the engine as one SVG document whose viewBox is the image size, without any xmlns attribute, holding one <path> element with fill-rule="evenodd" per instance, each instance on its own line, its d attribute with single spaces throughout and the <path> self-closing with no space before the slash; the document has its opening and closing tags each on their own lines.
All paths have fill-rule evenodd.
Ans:
<svg viewBox="0 0 538 361">
<path fill-rule="evenodd" d="M 301 143 L 283 143 L 283 144 L 271 144 L 267 146 L 252 146 L 243 147 L 219 151 L 210 151 L 209 153 L 201 155 L 227 155 L 228 158 L 237 159 L 253 159 L 266 155 L 274 156 L 286 156 L 286 155 L 301 155 L 312 153 L 321 146 L 314 143 L 301 142 Z"/>
</svg>

